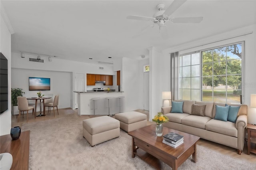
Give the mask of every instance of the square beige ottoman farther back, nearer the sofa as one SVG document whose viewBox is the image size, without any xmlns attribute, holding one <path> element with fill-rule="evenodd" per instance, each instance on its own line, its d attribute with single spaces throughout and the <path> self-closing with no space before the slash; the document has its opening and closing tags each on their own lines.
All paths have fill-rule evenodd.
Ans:
<svg viewBox="0 0 256 170">
<path fill-rule="evenodd" d="M 117 113 L 115 119 L 120 121 L 120 128 L 126 132 L 147 126 L 147 115 L 135 111 Z"/>
</svg>

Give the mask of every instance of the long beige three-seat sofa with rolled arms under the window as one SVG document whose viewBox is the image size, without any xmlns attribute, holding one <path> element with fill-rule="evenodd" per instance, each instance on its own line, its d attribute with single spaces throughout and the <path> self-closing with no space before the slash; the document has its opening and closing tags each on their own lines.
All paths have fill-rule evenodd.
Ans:
<svg viewBox="0 0 256 170">
<path fill-rule="evenodd" d="M 178 101 L 179 102 L 179 101 Z M 191 115 L 192 105 L 206 105 L 205 116 Z M 169 118 L 163 123 L 164 127 L 194 134 L 200 138 L 236 148 L 242 154 L 244 148 L 245 128 L 247 127 L 247 105 L 228 104 L 240 106 L 236 123 L 214 119 L 216 105 L 225 106 L 225 103 L 185 101 L 183 113 L 170 113 L 172 107 L 162 107 L 162 113 Z"/>
</svg>

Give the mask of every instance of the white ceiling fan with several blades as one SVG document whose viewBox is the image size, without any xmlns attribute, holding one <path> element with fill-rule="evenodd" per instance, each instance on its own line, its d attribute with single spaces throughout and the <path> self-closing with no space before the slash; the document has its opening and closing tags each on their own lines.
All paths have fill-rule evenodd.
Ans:
<svg viewBox="0 0 256 170">
<path fill-rule="evenodd" d="M 151 26 L 148 26 L 148 27 L 153 28 L 157 24 L 159 26 L 159 32 L 161 32 L 161 29 L 166 26 L 165 25 L 166 22 L 170 22 L 170 23 L 200 23 L 203 20 L 203 17 L 182 17 L 182 18 L 170 17 L 170 15 L 172 13 L 174 13 L 186 1 L 187 0 L 174 0 L 172 2 L 172 4 L 166 10 L 163 10 L 164 4 L 158 4 L 156 6 L 158 11 L 153 15 L 153 17 L 130 15 L 130 16 L 127 16 L 126 18 L 132 19 L 132 20 L 152 21 L 154 24 Z M 146 28 L 143 29 L 142 31 L 144 31 L 144 30 L 146 30 Z M 165 29 L 163 31 L 164 32 L 161 32 L 162 37 L 164 39 L 167 39 L 168 38 L 167 30 Z"/>
</svg>

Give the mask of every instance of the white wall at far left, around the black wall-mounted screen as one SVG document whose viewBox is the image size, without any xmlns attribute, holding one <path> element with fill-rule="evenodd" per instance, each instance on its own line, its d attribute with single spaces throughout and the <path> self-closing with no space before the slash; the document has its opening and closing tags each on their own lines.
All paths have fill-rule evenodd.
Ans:
<svg viewBox="0 0 256 170">
<path fill-rule="evenodd" d="M 2 18 L 2 13 L 0 19 L 0 51 L 8 59 L 8 110 L 0 115 L 0 135 L 4 135 L 10 134 L 11 129 L 11 34 Z"/>
</svg>

